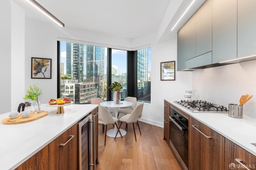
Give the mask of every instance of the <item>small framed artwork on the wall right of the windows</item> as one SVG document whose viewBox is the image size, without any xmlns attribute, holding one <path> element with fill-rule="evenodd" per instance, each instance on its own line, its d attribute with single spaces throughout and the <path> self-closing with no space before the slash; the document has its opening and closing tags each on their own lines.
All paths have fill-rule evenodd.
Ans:
<svg viewBox="0 0 256 170">
<path fill-rule="evenodd" d="M 175 61 L 161 63 L 161 80 L 175 80 Z"/>
</svg>

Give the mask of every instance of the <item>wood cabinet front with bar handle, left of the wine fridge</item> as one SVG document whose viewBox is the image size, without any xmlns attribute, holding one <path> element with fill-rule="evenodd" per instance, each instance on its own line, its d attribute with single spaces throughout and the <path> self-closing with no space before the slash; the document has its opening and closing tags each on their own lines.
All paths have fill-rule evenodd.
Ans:
<svg viewBox="0 0 256 170">
<path fill-rule="evenodd" d="M 78 124 L 74 124 L 48 145 L 49 169 L 77 169 Z"/>
</svg>

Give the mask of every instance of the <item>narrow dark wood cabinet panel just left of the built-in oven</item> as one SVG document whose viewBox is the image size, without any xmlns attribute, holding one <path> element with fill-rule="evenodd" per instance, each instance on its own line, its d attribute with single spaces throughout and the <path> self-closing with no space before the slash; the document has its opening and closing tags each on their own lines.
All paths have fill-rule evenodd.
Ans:
<svg viewBox="0 0 256 170">
<path fill-rule="evenodd" d="M 164 100 L 164 139 L 170 144 L 170 103 Z"/>
</svg>

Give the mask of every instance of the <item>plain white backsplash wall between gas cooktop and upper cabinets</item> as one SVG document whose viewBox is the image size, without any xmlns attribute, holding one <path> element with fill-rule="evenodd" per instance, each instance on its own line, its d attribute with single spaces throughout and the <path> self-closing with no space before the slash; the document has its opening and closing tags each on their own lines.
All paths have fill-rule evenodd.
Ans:
<svg viewBox="0 0 256 170">
<path fill-rule="evenodd" d="M 193 71 L 193 94 L 228 107 L 238 104 L 240 97 L 248 93 L 254 97 L 243 106 L 243 114 L 256 117 L 256 61 L 230 64 Z"/>
</svg>

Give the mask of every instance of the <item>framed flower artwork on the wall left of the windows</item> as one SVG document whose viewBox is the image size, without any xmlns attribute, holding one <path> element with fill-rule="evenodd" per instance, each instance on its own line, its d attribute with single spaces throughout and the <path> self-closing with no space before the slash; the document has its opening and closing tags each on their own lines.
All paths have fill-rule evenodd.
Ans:
<svg viewBox="0 0 256 170">
<path fill-rule="evenodd" d="M 52 59 L 32 57 L 31 78 L 52 78 Z"/>
</svg>

